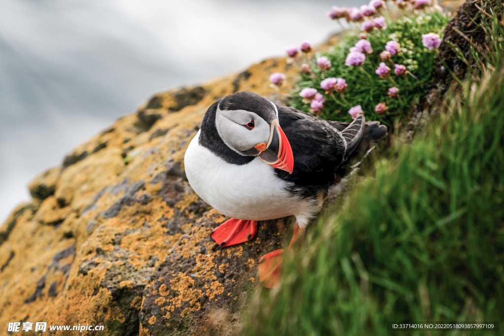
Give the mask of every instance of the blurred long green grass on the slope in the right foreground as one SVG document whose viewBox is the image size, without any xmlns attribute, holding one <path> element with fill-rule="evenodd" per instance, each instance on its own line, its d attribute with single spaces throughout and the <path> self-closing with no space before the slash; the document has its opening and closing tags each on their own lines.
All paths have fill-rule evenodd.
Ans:
<svg viewBox="0 0 504 336">
<path fill-rule="evenodd" d="M 391 149 L 373 177 L 312 224 L 304 245 L 284 260 L 281 288 L 256 296 L 244 335 L 424 335 L 389 331 L 387 322 L 502 321 L 499 6 L 485 23 L 489 43 L 479 75 L 470 73 L 473 80 L 446 98 L 421 139 Z M 504 333 L 500 328 L 430 334 Z"/>
</svg>

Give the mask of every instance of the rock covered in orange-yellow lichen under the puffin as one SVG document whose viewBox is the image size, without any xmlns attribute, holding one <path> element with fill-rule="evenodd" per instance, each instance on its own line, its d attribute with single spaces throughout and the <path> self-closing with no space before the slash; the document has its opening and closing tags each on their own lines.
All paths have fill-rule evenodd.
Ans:
<svg viewBox="0 0 504 336">
<path fill-rule="evenodd" d="M 239 330 L 257 261 L 286 225 L 260 222 L 256 239 L 221 249 L 210 232 L 225 217 L 192 190 L 183 156 L 214 101 L 253 91 L 281 103 L 274 72 L 297 76 L 268 59 L 157 94 L 35 178 L 32 202 L 0 227 L 0 333 L 27 321 L 105 326 L 84 335 Z"/>
</svg>

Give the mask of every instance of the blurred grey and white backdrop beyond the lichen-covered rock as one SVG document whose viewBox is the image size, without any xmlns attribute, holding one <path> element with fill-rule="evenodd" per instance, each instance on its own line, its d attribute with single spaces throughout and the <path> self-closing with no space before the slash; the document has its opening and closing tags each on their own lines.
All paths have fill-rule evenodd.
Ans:
<svg viewBox="0 0 504 336">
<path fill-rule="evenodd" d="M 0 225 L 27 184 L 156 92 L 282 56 L 362 0 L 0 0 Z"/>
</svg>

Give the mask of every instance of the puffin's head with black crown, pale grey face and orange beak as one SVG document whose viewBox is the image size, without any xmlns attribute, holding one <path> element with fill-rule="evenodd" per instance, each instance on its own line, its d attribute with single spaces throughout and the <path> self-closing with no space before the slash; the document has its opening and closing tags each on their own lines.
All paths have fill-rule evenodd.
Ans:
<svg viewBox="0 0 504 336">
<path fill-rule="evenodd" d="M 218 102 L 215 126 L 224 144 L 241 156 L 257 156 L 266 164 L 292 173 L 294 158 L 278 121 L 278 110 L 268 99 L 238 92 Z"/>
</svg>

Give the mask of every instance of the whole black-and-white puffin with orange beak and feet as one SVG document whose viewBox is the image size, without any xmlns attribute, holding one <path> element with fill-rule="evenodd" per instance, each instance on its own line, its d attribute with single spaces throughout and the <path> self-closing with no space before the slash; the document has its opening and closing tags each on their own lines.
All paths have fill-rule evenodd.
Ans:
<svg viewBox="0 0 504 336">
<path fill-rule="evenodd" d="M 194 191 L 231 218 L 211 233 L 221 247 L 253 239 L 258 221 L 295 216 L 292 249 L 349 160 L 386 136 L 385 125 L 366 123 L 363 115 L 329 121 L 238 92 L 208 108 L 184 169 Z M 259 260 L 263 287 L 279 286 L 282 252 Z"/>
</svg>

